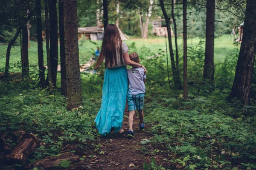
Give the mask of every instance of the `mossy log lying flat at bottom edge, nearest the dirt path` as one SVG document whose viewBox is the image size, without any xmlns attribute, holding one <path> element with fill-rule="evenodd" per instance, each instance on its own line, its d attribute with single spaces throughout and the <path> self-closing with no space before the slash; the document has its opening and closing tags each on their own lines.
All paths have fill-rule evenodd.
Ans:
<svg viewBox="0 0 256 170">
<path fill-rule="evenodd" d="M 70 161 L 68 164 L 67 170 L 79 170 L 82 169 L 82 164 L 80 158 L 73 153 L 61 153 L 56 156 L 47 156 L 42 160 L 37 160 L 33 163 L 34 167 L 43 168 L 43 169 L 54 169 L 60 167 L 62 163 Z M 58 168 L 57 168 L 58 169 Z M 64 169 L 62 166 L 61 169 Z"/>
</svg>

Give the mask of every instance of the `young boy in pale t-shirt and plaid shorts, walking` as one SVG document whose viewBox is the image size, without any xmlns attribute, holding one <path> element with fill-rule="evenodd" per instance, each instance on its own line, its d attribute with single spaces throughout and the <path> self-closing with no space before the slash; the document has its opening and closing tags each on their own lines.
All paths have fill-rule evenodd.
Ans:
<svg viewBox="0 0 256 170">
<path fill-rule="evenodd" d="M 130 59 L 134 62 L 139 63 L 139 55 L 137 53 L 131 53 L 129 55 Z M 139 127 L 140 130 L 144 130 L 145 123 L 143 122 L 143 104 L 144 104 L 144 96 L 145 96 L 145 82 L 146 76 L 144 75 L 143 68 L 130 68 L 127 69 L 128 79 L 129 79 L 129 90 L 127 94 L 128 99 L 128 110 L 129 110 L 129 131 L 128 137 L 134 138 L 134 131 L 132 129 L 133 126 L 133 117 L 135 114 L 135 110 L 139 112 L 140 122 Z"/>
</svg>

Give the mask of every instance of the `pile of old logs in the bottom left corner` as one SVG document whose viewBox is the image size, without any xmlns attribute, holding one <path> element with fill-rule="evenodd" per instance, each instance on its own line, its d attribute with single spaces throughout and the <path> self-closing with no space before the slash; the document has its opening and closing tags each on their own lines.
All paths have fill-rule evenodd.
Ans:
<svg viewBox="0 0 256 170">
<path fill-rule="evenodd" d="M 12 140 L 16 143 L 16 147 L 6 141 Z M 43 143 L 39 142 L 33 133 L 26 133 L 18 130 L 14 133 L 2 134 L 0 136 L 0 159 L 3 161 L 0 165 L 1 170 L 15 170 L 11 165 L 20 164 L 21 169 L 32 169 L 37 167 L 44 170 L 80 170 L 82 168 L 80 157 L 73 153 L 61 153 L 56 156 L 48 156 L 34 162 L 28 161 L 32 159 L 32 153 Z"/>
</svg>

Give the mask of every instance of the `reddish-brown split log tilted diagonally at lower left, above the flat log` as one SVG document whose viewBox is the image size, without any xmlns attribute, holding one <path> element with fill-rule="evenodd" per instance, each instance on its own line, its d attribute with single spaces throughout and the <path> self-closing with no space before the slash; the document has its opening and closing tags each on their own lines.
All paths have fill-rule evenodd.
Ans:
<svg viewBox="0 0 256 170">
<path fill-rule="evenodd" d="M 21 142 L 15 147 L 11 154 L 12 162 L 24 165 L 28 156 L 34 152 L 38 145 L 39 141 L 33 133 L 25 133 Z"/>
</svg>

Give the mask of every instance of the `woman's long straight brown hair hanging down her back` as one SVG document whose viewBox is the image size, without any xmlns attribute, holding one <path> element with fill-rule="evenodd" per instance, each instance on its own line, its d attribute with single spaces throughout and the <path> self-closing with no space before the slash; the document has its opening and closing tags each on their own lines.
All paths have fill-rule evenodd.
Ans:
<svg viewBox="0 0 256 170">
<path fill-rule="evenodd" d="M 117 65 L 116 53 L 120 54 L 120 62 L 122 61 L 122 40 L 118 28 L 114 24 L 108 24 L 104 31 L 102 41 L 102 50 L 99 54 L 99 59 L 96 62 L 95 70 L 99 69 L 105 57 L 105 67 L 112 68 Z"/>
</svg>

